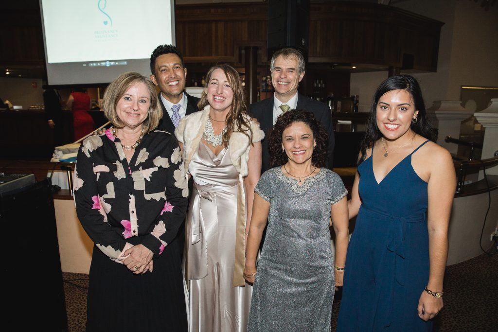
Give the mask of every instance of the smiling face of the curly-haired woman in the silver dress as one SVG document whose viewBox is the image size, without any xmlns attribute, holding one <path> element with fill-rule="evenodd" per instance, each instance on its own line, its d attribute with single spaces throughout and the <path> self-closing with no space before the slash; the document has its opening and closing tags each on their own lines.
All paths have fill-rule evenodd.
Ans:
<svg viewBox="0 0 498 332">
<path fill-rule="evenodd" d="M 289 162 L 311 162 L 315 144 L 313 131 L 304 122 L 293 122 L 282 133 L 282 147 Z"/>
</svg>

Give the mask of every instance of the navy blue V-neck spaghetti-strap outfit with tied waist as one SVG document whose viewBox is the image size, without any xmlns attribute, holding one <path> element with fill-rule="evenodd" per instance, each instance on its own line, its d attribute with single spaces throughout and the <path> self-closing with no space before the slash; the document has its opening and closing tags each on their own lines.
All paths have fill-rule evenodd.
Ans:
<svg viewBox="0 0 498 332">
<path fill-rule="evenodd" d="M 411 156 L 380 183 L 373 156 L 358 166 L 362 205 L 346 259 L 337 331 L 432 331 L 418 317 L 429 279 L 427 183 Z"/>
</svg>

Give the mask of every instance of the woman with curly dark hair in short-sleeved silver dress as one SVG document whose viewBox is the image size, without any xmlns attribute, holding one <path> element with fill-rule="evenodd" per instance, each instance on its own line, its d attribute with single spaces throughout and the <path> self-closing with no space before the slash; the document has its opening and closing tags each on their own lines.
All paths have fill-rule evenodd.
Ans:
<svg viewBox="0 0 498 332">
<path fill-rule="evenodd" d="M 323 167 L 327 132 L 312 113 L 280 115 L 268 147 L 277 167 L 255 188 L 244 271 L 254 283 L 248 331 L 330 331 L 349 242 L 348 192 L 339 175 Z M 329 225 L 336 233 L 335 269 Z"/>
</svg>

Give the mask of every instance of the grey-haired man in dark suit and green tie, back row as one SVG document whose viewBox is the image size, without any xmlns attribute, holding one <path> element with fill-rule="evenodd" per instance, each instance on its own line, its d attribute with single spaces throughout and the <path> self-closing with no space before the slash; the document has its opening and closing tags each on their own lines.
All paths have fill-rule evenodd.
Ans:
<svg viewBox="0 0 498 332">
<path fill-rule="evenodd" d="M 304 57 L 294 48 L 276 51 L 271 58 L 271 83 L 275 89 L 272 98 L 251 104 L 249 112 L 260 122 L 266 137 L 262 140 L 263 159 L 261 173 L 269 169 L 268 133 L 273 128 L 278 115 L 288 110 L 313 112 L 316 119 L 329 134 L 329 147 L 326 167 L 332 169 L 334 151 L 334 128 L 332 115 L 327 105 L 297 93 L 299 82 L 304 77 Z"/>
</svg>

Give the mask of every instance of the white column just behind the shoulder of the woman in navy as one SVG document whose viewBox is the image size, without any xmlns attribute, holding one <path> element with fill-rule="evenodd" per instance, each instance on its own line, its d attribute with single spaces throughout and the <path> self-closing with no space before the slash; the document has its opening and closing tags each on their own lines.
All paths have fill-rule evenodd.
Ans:
<svg viewBox="0 0 498 332">
<path fill-rule="evenodd" d="M 472 111 L 464 109 L 461 104 L 462 102 L 460 101 L 435 101 L 427 109 L 427 115 L 436 119 L 433 122 L 435 127 L 439 129 L 437 143 L 454 154 L 458 152 L 458 145 L 446 143 L 444 138 L 448 135 L 453 138 L 460 138 L 462 121 L 473 115 Z"/>
</svg>

